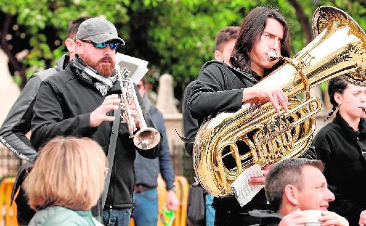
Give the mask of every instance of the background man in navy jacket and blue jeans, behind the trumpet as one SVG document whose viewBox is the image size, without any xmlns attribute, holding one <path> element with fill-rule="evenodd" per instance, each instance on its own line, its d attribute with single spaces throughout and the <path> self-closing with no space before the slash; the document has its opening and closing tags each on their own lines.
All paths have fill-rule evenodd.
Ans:
<svg viewBox="0 0 366 226">
<path fill-rule="evenodd" d="M 158 221 L 158 193 L 157 177 L 160 172 L 167 188 L 166 207 L 176 210 L 178 199 L 175 194 L 174 172 L 172 168 L 168 137 L 165 131 L 163 114 L 150 102 L 147 94 L 146 79 L 142 78 L 137 84 L 137 89 L 143 99 L 146 109 L 150 112 L 151 120 L 156 129 L 163 136 L 161 152 L 156 159 L 147 159 L 136 153 L 135 177 L 136 185 L 133 193 L 134 218 L 136 226 L 156 226 Z"/>
</svg>

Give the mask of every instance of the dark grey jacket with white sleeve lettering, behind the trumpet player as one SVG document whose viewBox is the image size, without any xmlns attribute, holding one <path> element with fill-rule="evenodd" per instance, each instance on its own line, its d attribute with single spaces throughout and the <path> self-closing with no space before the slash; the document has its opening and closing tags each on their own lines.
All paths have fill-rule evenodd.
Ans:
<svg viewBox="0 0 366 226">
<path fill-rule="evenodd" d="M 33 117 L 33 104 L 40 83 L 50 75 L 63 70 L 69 62 L 69 56 L 63 55 L 55 67 L 40 71 L 29 78 L 27 84 L 16 99 L 6 116 L 0 129 L 0 141 L 17 157 L 33 162 L 37 157 L 37 151 L 25 136 L 30 130 L 30 121 Z"/>
</svg>

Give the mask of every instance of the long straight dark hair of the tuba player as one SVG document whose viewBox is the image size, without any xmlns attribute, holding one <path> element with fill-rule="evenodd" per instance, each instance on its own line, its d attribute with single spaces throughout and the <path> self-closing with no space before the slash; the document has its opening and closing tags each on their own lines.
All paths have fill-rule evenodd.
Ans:
<svg viewBox="0 0 366 226">
<path fill-rule="evenodd" d="M 254 42 L 258 41 L 258 37 L 262 35 L 267 18 L 276 19 L 284 27 L 283 40 L 281 40 L 281 55 L 285 57 L 290 56 L 290 29 L 286 18 L 273 8 L 259 6 L 251 10 L 243 19 L 242 25 L 240 25 L 238 41 L 236 41 L 232 53 L 235 59 L 233 66 L 245 71 L 250 70 L 249 54 Z M 275 70 L 280 64 L 281 62 L 277 63 L 270 70 L 265 70 L 265 75 Z"/>
</svg>

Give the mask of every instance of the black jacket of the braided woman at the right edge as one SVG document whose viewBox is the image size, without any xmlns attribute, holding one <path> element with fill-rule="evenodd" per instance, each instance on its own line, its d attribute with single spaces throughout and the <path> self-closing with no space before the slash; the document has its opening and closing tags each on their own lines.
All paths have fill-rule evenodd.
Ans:
<svg viewBox="0 0 366 226">
<path fill-rule="evenodd" d="M 329 210 L 358 225 L 360 214 L 366 210 L 366 120 L 361 118 L 355 131 L 337 112 L 332 122 L 315 136 L 315 152 L 325 164 L 324 175 L 336 200 Z"/>
</svg>

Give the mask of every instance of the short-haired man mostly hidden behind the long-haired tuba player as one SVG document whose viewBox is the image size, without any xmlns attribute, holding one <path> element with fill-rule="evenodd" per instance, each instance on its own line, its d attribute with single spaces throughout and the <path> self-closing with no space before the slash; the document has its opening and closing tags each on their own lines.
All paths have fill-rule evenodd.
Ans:
<svg viewBox="0 0 366 226">
<path fill-rule="evenodd" d="M 229 64 L 230 55 L 232 49 L 234 48 L 236 39 L 238 38 L 240 31 L 240 27 L 230 26 L 222 28 L 216 35 L 215 38 L 215 52 L 214 58 L 215 60 L 223 61 L 226 64 Z M 190 82 L 187 85 L 186 89 L 183 92 L 182 99 L 182 114 L 183 114 L 183 130 L 184 137 L 194 139 L 198 131 L 198 122 L 197 119 L 193 118 L 190 110 L 188 109 L 188 100 L 189 95 L 192 92 L 192 87 L 196 80 Z M 186 151 L 189 155 L 192 155 L 193 143 L 186 143 Z M 203 189 L 202 191 L 205 193 L 205 222 L 202 222 L 202 225 L 213 226 L 215 210 L 212 207 L 213 196 L 211 194 L 207 194 Z M 193 203 L 188 203 L 190 206 Z M 188 210 L 189 211 L 189 210 Z M 188 221 L 190 221 L 188 219 Z"/>
</svg>

